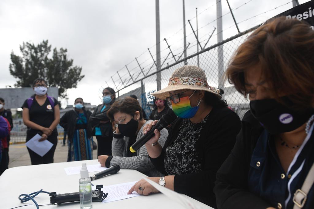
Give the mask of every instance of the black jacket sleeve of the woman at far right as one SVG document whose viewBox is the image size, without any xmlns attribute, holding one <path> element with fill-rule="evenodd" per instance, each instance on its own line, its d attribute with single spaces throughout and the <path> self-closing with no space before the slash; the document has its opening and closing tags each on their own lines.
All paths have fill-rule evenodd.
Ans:
<svg viewBox="0 0 314 209">
<path fill-rule="evenodd" d="M 254 120 L 250 112 L 246 113 L 236 144 L 217 172 L 214 193 L 219 209 L 265 209 L 270 207 L 260 197 L 247 191 L 250 160 L 262 130 L 257 121 L 254 122 Z"/>
</svg>

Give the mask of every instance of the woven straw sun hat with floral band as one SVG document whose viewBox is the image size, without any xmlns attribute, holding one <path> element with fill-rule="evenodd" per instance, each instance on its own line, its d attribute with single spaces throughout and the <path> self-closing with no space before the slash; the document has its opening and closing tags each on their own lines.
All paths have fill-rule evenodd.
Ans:
<svg viewBox="0 0 314 209">
<path fill-rule="evenodd" d="M 168 86 L 160 91 L 152 93 L 152 95 L 160 99 L 166 99 L 166 97 L 170 97 L 169 91 L 183 89 L 204 90 L 221 98 L 219 89 L 208 86 L 204 71 L 200 67 L 193 65 L 184 65 L 183 67 L 176 69 L 169 79 Z"/>
</svg>

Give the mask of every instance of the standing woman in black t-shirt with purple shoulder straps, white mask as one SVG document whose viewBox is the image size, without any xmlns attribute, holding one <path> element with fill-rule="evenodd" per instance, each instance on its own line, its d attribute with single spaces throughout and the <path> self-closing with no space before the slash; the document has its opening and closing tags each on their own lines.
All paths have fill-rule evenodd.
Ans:
<svg viewBox="0 0 314 209">
<path fill-rule="evenodd" d="M 48 140 L 53 146 L 44 155 L 40 156 L 28 149 L 32 165 L 53 163 L 53 155 L 57 146 L 57 125 L 60 121 L 58 101 L 48 97 L 47 84 L 44 79 L 38 78 L 33 83 L 35 95 L 25 100 L 23 108 L 23 122 L 28 127 L 26 142 L 37 133 L 41 135 L 39 141 Z"/>
</svg>

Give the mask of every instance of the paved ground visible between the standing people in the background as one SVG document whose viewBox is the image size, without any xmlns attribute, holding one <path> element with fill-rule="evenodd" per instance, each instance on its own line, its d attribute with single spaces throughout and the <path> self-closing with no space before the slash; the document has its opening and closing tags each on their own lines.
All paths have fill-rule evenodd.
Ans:
<svg viewBox="0 0 314 209">
<path fill-rule="evenodd" d="M 97 144 L 96 139 L 94 141 Z M 31 165 L 30 155 L 25 144 L 11 144 L 9 147 L 9 168 Z M 57 148 L 54 155 L 54 162 L 66 162 L 68 157 L 68 146 L 62 146 L 62 140 L 58 140 Z M 97 159 L 97 150 L 93 151 L 93 159 Z"/>
</svg>

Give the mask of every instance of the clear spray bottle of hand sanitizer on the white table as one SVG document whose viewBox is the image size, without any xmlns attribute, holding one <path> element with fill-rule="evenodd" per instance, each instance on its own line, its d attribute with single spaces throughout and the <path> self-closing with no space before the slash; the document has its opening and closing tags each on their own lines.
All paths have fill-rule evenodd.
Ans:
<svg viewBox="0 0 314 209">
<path fill-rule="evenodd" d="M 89 209 L 93 207 L 92 203 L 92 185 L 88 176 L 86 163 L 82 163 L 81 178 L 78 180 L 79 184 L 79 203 L 81 209 Z"/>
</svg>

